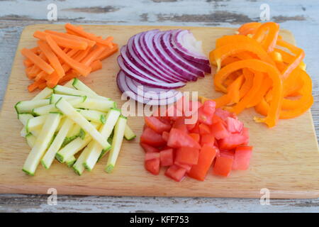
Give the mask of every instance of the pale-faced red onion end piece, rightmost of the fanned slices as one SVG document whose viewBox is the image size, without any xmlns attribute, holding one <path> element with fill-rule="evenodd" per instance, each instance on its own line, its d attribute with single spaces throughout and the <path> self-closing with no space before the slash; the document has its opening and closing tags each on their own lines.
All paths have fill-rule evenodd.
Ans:
<svg viewBox="0 0 319 227">
<path fill-rule="evenodd" d="M 201 42 L 188 30 L 175 30 L 171 35 L 172 47 L 188 60 L 209 65 L 209 60 L 201 50 Z"/>
</svg>

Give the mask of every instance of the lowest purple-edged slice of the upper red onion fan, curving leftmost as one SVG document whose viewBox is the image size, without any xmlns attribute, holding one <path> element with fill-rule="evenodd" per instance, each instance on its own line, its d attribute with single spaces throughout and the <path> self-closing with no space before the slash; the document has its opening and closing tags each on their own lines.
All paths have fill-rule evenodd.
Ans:
<svg viewBox="0 0 319 227">
<path fill-rule="evenodd" d="M 149 85 L 150 87 L 160 87 L 163 89 L 174 89 L 174 88 L 183 87 L 185 85 L 185 83 L 183 83 L 183 82 L 166 83 L 166 82 L 161 82 L 159 79 L 150 80 L 150 79 L 146 79 L 145 77 L 141 77 L 140 75 L 136 74 L 135 72 L 133 72 L 132 70 L 128 69 L 128 67 L 125 66 L 121 55 L 118 56 L 118 65 L 120 66 L 121 70 L 123 70 L 123 72 L 125 72 L 125 75 L 127 75 L 128 77 L 130 77 L 132 79 L 135 79 L 136 81 L 140 82 L 141 84 Z"/>
</svg>

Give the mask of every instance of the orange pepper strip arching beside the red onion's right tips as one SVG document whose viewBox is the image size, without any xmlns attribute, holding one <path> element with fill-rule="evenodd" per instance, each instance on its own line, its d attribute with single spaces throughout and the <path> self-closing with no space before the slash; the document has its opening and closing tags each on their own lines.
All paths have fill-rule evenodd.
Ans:
<svg viewBox="0 0 319 227">
<path fill-rule="evenodd" d="M 220 70 L 221 62 L 228 56 L 240 53 L 240 52 L 252 52 L 257 55 L 260 60 L 267 62 L 271 65 L 275 65 L 274 61 L 267 54 L 266 51 L 262 48 L 261 45 L 251 41 L 232 43 L 228 45 L 223 45 L 220 48 L 217 48 L 210 52 L 209 58 L 214 59 L 217 63 L 217 71 Z M 250 57 L 252 58 L 252 57 Z"/>
</svg>

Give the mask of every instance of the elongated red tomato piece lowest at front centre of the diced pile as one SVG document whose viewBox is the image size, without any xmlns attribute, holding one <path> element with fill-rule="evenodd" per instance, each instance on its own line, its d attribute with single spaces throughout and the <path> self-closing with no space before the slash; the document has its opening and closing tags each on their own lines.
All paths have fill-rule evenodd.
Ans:
<svg viewBox="0 0 319 227">
<path fill-rule="evenodd" d="M 189 177 L 203 181 L 206 177 L 209 167 L 211 167 L 216 153 L 216 148 L 213 148 L 209 145 L 203 145 L 198 156 L 197 164 L 193 165 L 188 173 Z"/>
</svg>

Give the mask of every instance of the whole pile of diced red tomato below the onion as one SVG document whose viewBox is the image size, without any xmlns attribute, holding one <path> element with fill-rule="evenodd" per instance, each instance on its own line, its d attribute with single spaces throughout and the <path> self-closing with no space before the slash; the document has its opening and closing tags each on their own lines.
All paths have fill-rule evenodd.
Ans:
<svg viewBox="0 0 319 227">
<path fill-rule="evenodd" d="M 160 167 L 168 167 L 165 175 L 177 182 L 185 175 L 203 181 L 212 165 L 214 174 L 224 177 L 230 175 L 232 169 L 247 170 L 252 147 L 247 146 L 249 134 L 244 124 L 235 114 L 216 109 L 215 102 L 210 100 L 194 108 L 197 121 L 186 124 L 184 110 L 192 103 L 195 101 L 182 97 L 172 106 L 174 110 L 182 110 L 181 116 L 174 113 L 173 117 L 158 116 L 155 111 L 145 117 L 140 137 L 145 151 L 145 170 L 158 175 Z"/>
</svg>

